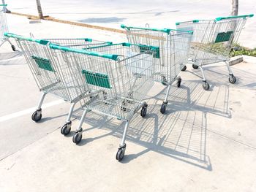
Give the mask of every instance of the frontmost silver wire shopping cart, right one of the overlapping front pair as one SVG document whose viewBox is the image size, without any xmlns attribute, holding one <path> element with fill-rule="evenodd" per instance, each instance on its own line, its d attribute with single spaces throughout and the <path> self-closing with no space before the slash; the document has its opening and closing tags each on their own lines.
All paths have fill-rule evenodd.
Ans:
<svg viewBox="0 0 256 192">
<path fill-rule="evenodd" d="M 121 161 L 129 120 L 140 109 L 142 117 L 147 112 L 148 105 L 143 99 L 154 82 L 154 47 L 141 51 L 139 45 L 121 43 L 86 50 L 58 45 L 50 45 L 50 48 L 62 50 L 67 63 L 76 64 L 78 72 L 83 74 L 84 86 L 94 93 L 86 98 L 85 110 L 72 141 L 78 144 L 82 139 L 82 124 L 89 111 L 124 120 L 124 134 L 116 153 L 116 159 Z"/>
</svg>

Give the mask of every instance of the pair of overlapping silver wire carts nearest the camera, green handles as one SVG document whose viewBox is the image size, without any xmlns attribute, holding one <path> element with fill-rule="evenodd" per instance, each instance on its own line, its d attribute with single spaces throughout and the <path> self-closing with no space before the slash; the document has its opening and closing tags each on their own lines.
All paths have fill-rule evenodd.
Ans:
<svg viewBox="0 0 256 192">
<path fill-rule="evenodd" d="M 64 135 L 70 132 L 70 117 L 75 104 L 79 101 L 84 109 L 72 139 L 76 144 L 82 139 L 82 124 L 88 112 L 124 120 L 124 134 L 116 153 L 116 159 L 121 161 L 129 120 L 138 110 L 142 117 L 146 116 L 148 104 L 143 99 L 154 82 L 155 47 L 143 46 L 141 51 L 140 45 L 121 43 L 77 49 L 45 39 L 5 35 L 16 39 L 39 90 L 43 92 L 39 109 L 32 119 L 42 118 L 42 101 L 47 93 L 51 93 L 72 103 L 67 123 L 61 128 Z"/>
</svg>

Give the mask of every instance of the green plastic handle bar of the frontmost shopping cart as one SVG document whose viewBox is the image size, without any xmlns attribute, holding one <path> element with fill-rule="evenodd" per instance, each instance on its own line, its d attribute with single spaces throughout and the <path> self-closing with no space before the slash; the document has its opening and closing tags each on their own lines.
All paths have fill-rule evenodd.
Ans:
<svg viewBox="0 0 256 192">
<path fill-rule="evenodd" d="M 70 47 L 63 47 L 63 46 L 55 45 L 52 43 L 50 43 L 50 48 L 53 50 L 64 50 L 64 51 L 72 52 L 72 53 L 82 53 L 82 54 L 92 55 L 92 56 L 97 56 L 97 57 L 102 57 L 102 58 L 109 58 L 114 61 L 117 61 L 118 56 L 119 56 L 119 55 L 102 54 L 102 53 L 91 52 L 91 51 L 86 51 L 86 50 L 79 50 L 79 49 L 74 49 L 74 48 L 70 48 Z"/>
</svg>

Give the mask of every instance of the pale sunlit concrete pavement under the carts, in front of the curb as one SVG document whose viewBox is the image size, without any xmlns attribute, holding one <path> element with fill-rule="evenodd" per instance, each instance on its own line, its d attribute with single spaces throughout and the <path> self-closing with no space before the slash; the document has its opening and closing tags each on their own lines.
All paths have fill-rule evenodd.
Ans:
<svg viewBox="0 0 256 192">
<path fill-rule="evenodd" d="M 122 34 L 8 15 L 10 31 L 34 37 L 92 37 L 122 41 Z M 68 31 L 68 32 L 67 32 Z M 148 115 L 129 125 L 124 161 L 115 159 L 124 123 L 89 113 L 83 140 L 72 143 L 81 110 L 64 137 L 69 104 L 47 96 L 40 123 L 31 120 L 39 91 L 22 54 L 0 47 L 0 191 L 246 191 L 256 188 L 256 61 L 224 64 L 200 72 L 188 66 L 181 88 L 172 86 L 167 114 L 159 107 L 165 87 L 155 83 L 146 98 Z"/>
</svg>

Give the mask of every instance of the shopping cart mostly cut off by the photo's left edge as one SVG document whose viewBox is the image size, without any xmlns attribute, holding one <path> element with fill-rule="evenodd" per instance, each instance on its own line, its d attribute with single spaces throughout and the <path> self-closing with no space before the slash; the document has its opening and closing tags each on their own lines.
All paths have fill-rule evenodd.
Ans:
<svg viewBox="0 0 256 192">
<path fill-rule="evenodd" d="M 4 12 L 4 7 L 6 6 L 7 4 L 0 4 L 0 47 L 4 44 L 4 42 L 9 42 L 12 50 L 15 51 L 15 46 L 12 45 L 12 42 L 10 42 L 8 37 L 4 36 L 4 33 L 8 32 L 7 18 L 5 15 L 6 13 Z"/>
</svg>

